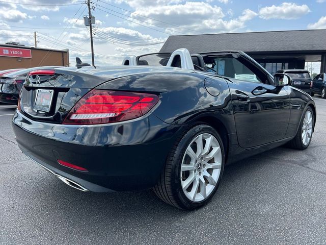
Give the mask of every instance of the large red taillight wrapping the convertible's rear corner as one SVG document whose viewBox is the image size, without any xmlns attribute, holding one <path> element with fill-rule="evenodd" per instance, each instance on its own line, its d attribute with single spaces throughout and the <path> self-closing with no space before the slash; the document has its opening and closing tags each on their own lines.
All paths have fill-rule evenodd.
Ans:
<svg viewBox="0 0 326 245">
<path fill-rule="evenodd" d="M 107 124 L 141 117 L 158 102 L 149 93 L 94 89 L 70 110 L 63 124 Z"/>
</svg>

